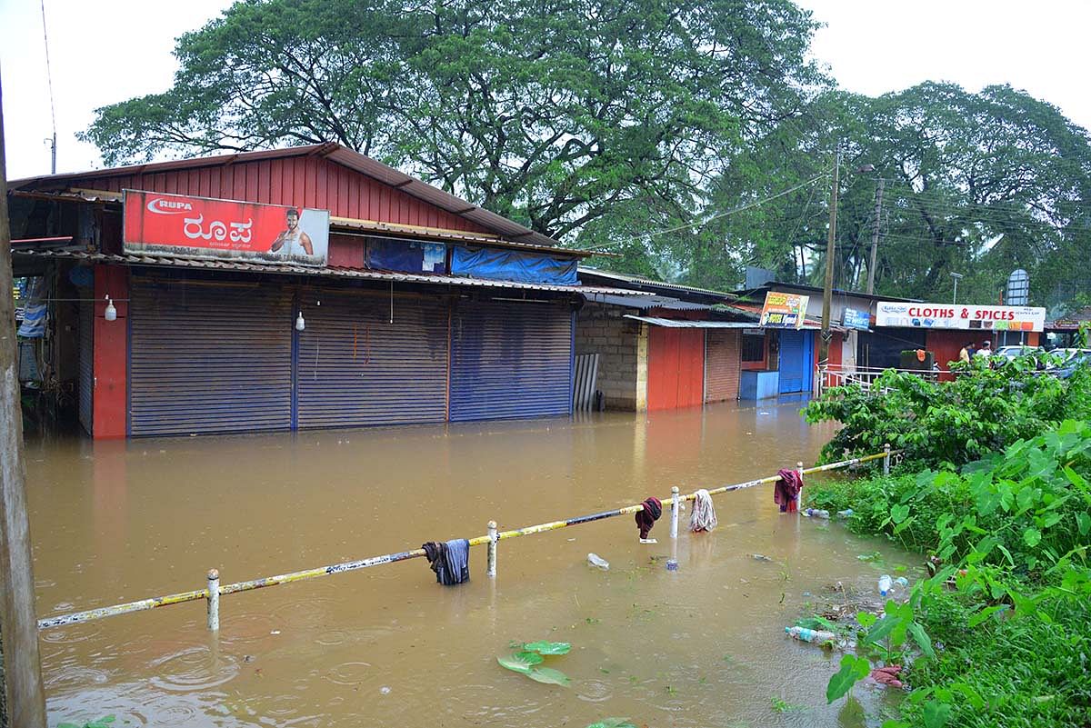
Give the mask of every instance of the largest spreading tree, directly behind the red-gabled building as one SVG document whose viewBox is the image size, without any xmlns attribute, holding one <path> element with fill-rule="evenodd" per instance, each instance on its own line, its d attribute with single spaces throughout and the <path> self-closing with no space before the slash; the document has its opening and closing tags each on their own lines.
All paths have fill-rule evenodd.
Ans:
<svg viewBox="0 0 1091 728">
<path fill-rule="evenodd" d="M 789 0 L 247 0 L 85 137 L 107 163 L 338 142 L 564 238 L 700 207 L 825 83 L 815 27 Z"/>
</svg>

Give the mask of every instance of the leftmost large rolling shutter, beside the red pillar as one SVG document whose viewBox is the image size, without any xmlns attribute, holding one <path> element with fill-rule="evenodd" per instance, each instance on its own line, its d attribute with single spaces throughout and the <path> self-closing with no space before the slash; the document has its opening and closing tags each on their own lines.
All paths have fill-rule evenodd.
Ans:
<svg viewBox="0 0 1091 728">
<path fill-rule="evenodd" d="M 133 278 L 130 434 L 291 426 L 291 294 Z"/>
</svg>

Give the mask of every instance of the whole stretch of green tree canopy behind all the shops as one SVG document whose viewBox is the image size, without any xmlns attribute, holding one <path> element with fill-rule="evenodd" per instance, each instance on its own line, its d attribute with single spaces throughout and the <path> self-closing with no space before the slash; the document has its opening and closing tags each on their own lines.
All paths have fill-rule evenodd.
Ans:
<svg viewBox="0 0 1091 728">
<path fill-rule="evenodd" d="M 338 142 L 714 289 L 747 265 L 822 283 L 840 148 L 836 286 L 863 287 L 877 226 L 879 293 L 942 300 L 959 272 L 992 302 L 1016 267 L 1034 303 L 1091 288 L 1086 130 L 1009 86 L 836 89 L 815 29 L 790 0 L 243 0 L 84 136 L 107 163 Z"/>
</svg>

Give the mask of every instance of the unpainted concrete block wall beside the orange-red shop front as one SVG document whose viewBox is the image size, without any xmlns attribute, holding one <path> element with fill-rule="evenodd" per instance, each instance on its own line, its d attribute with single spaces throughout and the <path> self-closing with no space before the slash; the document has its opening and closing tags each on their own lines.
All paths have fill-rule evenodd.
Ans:
<svg viewBox="0 0 1091 728">
<path fill-rule="evenodd" d="M 576 316 L 576 355 L 599 355 L 595 386 L 606 408 L 632 412 L 647 409 L 648 335 L 647 325 L 624 318 L 626 313 L 620 306 L 584 304 Z"/>
</svg>

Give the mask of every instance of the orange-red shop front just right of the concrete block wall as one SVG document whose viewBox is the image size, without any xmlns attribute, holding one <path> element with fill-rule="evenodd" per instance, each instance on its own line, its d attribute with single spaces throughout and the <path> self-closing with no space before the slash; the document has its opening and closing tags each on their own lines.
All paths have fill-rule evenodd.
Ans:
<svg viewBox="0 0 1091 728">
<path fill-rule="evenodd" d="M 704 402 L 705 330 L 652 326 L 648 333 L 648 409 Z"/>
</svg>

